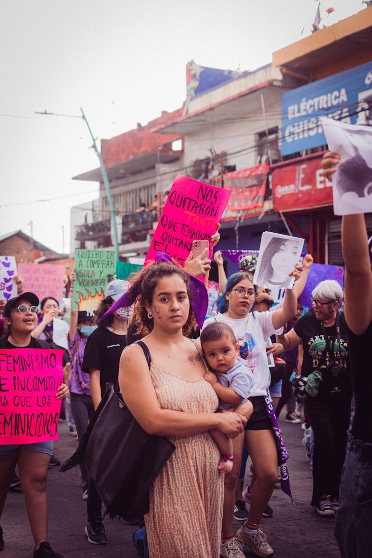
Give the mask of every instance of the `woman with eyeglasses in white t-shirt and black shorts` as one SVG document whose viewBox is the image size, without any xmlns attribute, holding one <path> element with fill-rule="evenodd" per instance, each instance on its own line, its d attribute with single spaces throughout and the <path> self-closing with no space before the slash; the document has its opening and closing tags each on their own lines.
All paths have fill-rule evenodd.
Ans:
<svg viewBox="0 0 372 558">
<path fill-rule="evenodd" d="M 299 277 L 298 271 L 291 272 Z M 249 400 L 253 413 L 245 427 L 245 433 L 233 439 L 235 461 L 233 470 L 225 477 L 224 513 L 222 522 L 223 541 L 221 556 L 244 558 L 243 543 L 258 556 L 270 556 L 273 552 L 259 523 L 262 513 L 278 480 L 278 450 L 265 397 L 270 384 L 265 340 L 274 333 L 282 333 L 282 327 L 296 314 L 297 300 L 291 289 L 286 289 L 283 306 L 276 312 L 253 312 L 255 290 L 252 277 L 238 272 L 231 275 L 221 295 L 220 312 L 213 321 L 228 324 L 240 345 L 240 357 L 247 359 L 253 372 L 253 388 Z M 239 479 L 243 443 L 252 458 L 257 481 L 253 485 L 247 523 L 233 535 L 235 489 Z"/>
</svg>

